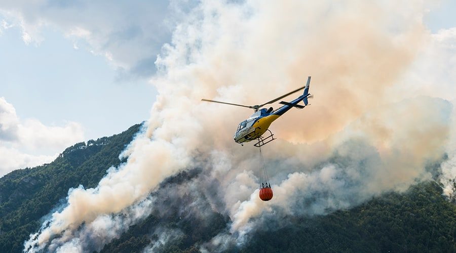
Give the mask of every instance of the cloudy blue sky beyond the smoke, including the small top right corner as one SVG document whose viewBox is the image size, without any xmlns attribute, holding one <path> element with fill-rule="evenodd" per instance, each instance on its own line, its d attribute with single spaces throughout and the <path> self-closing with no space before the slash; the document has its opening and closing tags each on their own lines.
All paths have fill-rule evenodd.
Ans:
<svg viewBox="0 0 456 253">
<path fill-rule="evenodd" d="M 146 120 L 182 3 L 0 1 L 0 176 Z M 456 27 L 454 10 L 431 2 L 428 29 Z"/>
</svg>

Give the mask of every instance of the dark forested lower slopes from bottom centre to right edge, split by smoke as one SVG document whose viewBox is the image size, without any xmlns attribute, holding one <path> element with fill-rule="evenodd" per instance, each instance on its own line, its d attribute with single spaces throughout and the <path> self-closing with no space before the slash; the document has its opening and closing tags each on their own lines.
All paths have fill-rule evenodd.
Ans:
<svg viewBox="0 0 456 253">
<path fill-rule="evenodd" d="M 188 201 L 191 202 L 191 201 Z M 187 203 L 190 204 L 190 203 Z M 168 206 L 169 207 L 169 206 Z M 170 210 L 177 212 L 178 206 Z M 209 223 L 191 217 L 186 221 L 159 220 L 152 214 L 132 226 L 102 252 L 141 251 L 157 241 L 159 226 L 183 234 L 159 248 L 163 252 L 198 252 L 229 219 L 212 213 Z M 174 216 L 176 217 L 176 216 Z M 163 218 L 162 218 L 163 219 Z M 189 224 L 193 221 L 193 225 Z M 258 228 L 246 243 L 226 248 L 232 252 L 456 252 L 456 205 L 442 196 L 436 182 L 424 182 L 406 193 L 387 193 L 350 210 L 327 216 L 284 217 Z M 210 226 L 201 226 L 210 224 Z M 287 225 L 283 225 L 287 224 Z M 225 230 L 226 231 L 226 230 Z"/>
</svg>

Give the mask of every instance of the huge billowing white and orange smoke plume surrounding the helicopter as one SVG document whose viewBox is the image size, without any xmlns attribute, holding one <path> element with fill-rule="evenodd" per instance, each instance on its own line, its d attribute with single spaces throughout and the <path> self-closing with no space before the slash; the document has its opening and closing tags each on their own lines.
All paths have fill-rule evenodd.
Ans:
<svg viewBox="0 0 456 253">
<path fill-rule="evenodd" d="M 223 250 L 242 244 L 264 219 L 327 214 L 430 179 L 425 165 L 446 152 L 452 104 L 398 92 L 430 36 L 424 11 L 422 1 L 201 2 L 162 48 L 151 80 L 159 96 L 122 154 L 127 161 L 109 168 L 96 188 L 71 189 L 67 205 L 25 249 L 99 250 L 149 209 L 166 217 L 174 206 L 193 218 L 207 209 L 229 216 L 229 228 L 202 246 Z M 200 99 L 262 103 L 302 86 L 308 75 L 312 105 L 275 122 L 280 140 L 264 148 L 275 194 L 262 202 L 258 150 L 231 139 L 250 112 Z M 165 179 L 194 168 L 198 177 L 166 192 L 194 192 L 191 203 L 141 204 Z M 155 233 L 163 236 L 146 250 L 181 235 Z"/>
</svg>

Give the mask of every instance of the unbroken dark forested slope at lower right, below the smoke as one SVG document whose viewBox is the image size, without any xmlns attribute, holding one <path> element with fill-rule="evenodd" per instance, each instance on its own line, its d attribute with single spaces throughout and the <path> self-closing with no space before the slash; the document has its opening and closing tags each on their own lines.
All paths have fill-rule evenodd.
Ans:
<svg viewBox="0 0 456 253">
<path fill-rule="evenodd" d="M 436 182 L 388 193 L 350 210 L 289 217 L 258 231 L 243 252 L 456 252 L 456 205 Z"/>
</svg>

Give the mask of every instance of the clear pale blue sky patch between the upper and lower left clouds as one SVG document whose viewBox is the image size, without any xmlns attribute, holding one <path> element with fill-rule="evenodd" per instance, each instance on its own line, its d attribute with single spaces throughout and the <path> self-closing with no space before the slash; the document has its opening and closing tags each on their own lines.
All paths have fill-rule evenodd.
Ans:
<svg viewBox="0 0 456 253">
<path fill-rule="evenodd" d="M 72 41 L 49 28 L 43 37 L 39 45 L 25 45 L 18 28 L 0 36 L 0 94 L 20 118 L 80 122 L 91 139 L 148 117 L 156 93 L 147 77 L 118 80 L 105 57 L 74 49 Z"/>
</svg>

